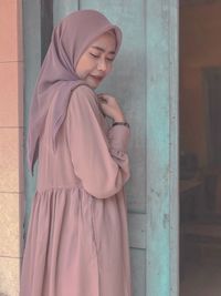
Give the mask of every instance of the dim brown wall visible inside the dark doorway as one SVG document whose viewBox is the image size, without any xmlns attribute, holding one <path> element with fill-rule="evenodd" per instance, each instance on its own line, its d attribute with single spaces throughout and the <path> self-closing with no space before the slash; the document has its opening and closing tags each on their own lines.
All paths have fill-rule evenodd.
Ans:
<svg viewBox="0 0 221 296">
<path fill-rule="evenodd" d="M 200 166 L 208 164 L 202 69 L 221 65 L 221 3 L 204 2 L 180 10 L 180 142 L 197 153 Z"/>
</svg>

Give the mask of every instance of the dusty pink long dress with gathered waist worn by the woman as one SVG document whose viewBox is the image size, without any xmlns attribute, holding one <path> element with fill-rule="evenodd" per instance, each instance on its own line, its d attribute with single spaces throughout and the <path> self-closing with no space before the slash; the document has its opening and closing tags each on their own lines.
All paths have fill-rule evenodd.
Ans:
<svg viewBox="0 0 221 296">
<path fill-rule="evenodd" d="M 87 85 L 71 95 L 53 153 L 41 136 L 20 296 L 131 296 L 127 205 L 130 131 L 108 126 Z"/>
</svg>

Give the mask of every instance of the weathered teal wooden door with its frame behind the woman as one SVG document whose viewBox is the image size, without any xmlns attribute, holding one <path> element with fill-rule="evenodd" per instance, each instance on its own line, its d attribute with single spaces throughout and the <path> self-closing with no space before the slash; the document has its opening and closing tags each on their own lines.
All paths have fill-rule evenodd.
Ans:
<svg viewBox="0 0 221 296">
<path fill-rule="evenodd" d="M 116 95 L 131 125 L 126 194 L 134 296 L 178 296 L 177 0 L 39 2 L 23 6 L 24 125 L 53 25 L 72 10 L 105 13 L 124 33 L 114 72 L 97 91 Z M 34 187 L 27 170 L 25 229 Z"/>
</svg>

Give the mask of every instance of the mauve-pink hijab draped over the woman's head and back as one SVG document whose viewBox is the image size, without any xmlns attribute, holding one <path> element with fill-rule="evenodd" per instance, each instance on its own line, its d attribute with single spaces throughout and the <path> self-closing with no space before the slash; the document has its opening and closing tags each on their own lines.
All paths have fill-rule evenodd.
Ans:
<svg viewBox="0 0 221 296">
<path fill-rule="evenodd" d="M 122 43 L 122 31 L 96 10 L 74 11 L 53 29 L 30 106 L 27 150 L 28 166 L 32 175 L 39 156 L 39 137 L 52 100 L 54 111 L 51 135 L 55 151 L 56 134 L 65 119 L 71 91 L 80 84 L 86 84 L 74 71 L 77 61 L 97 37 L 110 29 L 114 29 L 116 34 L 117 53 Z"/>
</svg>

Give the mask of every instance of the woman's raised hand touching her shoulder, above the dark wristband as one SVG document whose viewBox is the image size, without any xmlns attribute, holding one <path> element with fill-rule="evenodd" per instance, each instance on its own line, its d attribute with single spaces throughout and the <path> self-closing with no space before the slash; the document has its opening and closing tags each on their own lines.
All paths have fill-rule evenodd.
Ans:
<svg viewBox="0 0 221 296">
<path fill-rule="evenodd" d="M 98 93 L 97 98 L 104 115 L 109 116 L 114 121 L 125 121 L 124 113 L 114 96 Z"/>
</svg>

